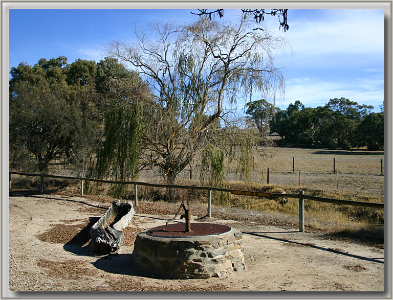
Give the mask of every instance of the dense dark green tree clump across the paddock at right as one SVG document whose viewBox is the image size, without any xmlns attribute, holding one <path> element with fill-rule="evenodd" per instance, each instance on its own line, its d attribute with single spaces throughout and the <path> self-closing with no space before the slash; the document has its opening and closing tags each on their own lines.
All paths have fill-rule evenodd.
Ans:
<svg viewBox="0 0 393 300">
<path fill-rule="evenodd" d="M 304 108 L 297 100 L 276 113 L 271 128 L 287 143 L 349 147 L 363 146 L 368 141 L 370 148 L 377 148 L 383 144 L 380 138 L 383 134 L 375 134 L 383 128 L 380 127 L 383 117 L 370 114 L 372 109 L 373 106 L 345 98 L 331 99 L 316 108 Z"/>
</svg>

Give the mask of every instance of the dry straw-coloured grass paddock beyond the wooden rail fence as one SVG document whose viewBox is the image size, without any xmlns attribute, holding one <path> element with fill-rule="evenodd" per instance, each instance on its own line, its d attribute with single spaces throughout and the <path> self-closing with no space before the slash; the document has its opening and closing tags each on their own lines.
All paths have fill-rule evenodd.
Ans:
<svg viewBox="0 0 393 300">
<path fill-rule="evenodd" d="M 352 191 L 354 197 L 362 194 L 383 202 L 382 151 L 271 147 L 265 148 L 264 152 L 266 155 L 260 156 L 254 151 L 254 164 L 247 182 L 267 184 L 269 168 L 270 184 L 289 186 L 298 190 L 307 187 L 334 192 Z M 333 173 L 334 167 L 336 173 Z M 233 169 L 235 166 L 227 166 L 226 179 L 244 181 L 239 174 L 233 172 Z M 195 170 L 198 170 L 198 166 L 193 167 L 192 171 L 193 178 L 198 180 L 199 173 Z M 382 174 L 383 172 L 382 169 Z M 152 173 L 143 172 L 140 178 L 147 181 L 152 176 L 155 180 L 160 179 Z M 189 178 L 189 169 L 184 170 L 179 177 Z"/>
</svg>

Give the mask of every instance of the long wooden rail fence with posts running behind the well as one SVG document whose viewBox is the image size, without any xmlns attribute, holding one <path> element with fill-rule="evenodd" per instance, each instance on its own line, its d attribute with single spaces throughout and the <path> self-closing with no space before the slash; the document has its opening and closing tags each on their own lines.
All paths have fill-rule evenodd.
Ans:
<svg viewBox="0 0 393 300">
<path fill-rule="evenodd" d="M 23 175 L 23 176 L 33 176 L 40 177 L 40 193 L 43 193 L 43 178 L 58 178 L 58 179 L 71 179 L 80 180 L 80 195 L 83 196 L 83 183 L 85 180 L 96 181 L 102 183 L 110 184 L 134 184 L 135 193 L 135 206 L 138 206 L 138 186 L 146 187 L 156 187 L 156 188 L 174 188 L 174 189 L 190 189 L 190 190 L 205 190 L 207 191 L 207 216 L 211 217 L 211 191 L 227 192 L 233 195 L 244 195 L 253 197 L 265 197 L 265 198 L 298 198 L 299 199 L 299 230 L 304 232 L 304 200 L 312 200 L 319 202 L 328 202 L 333 204 L 341 205 L 352 205 L 352 206 L 363 206 L 363 207 L 373 207 L 375 209 L 383 209 L 383 203 L 373 203 L 373 202 L 360 202 L 352 200 L 341 200 L 333 198 L 324 198 L 312 195 L 305 195 L 303 191 L 299 191 L 299 194 L 282 194 L 282 193 L 270 193 L 270 192 L 258 192 L 258 191 L 242 191 L 242 190 L 231 190 L 231 189 L 221 189 L 213 187 L 195 187 L 195 186 L 177 186 L 172 184 L 161 184 L 161 183 L 148 183 L 142 181 L 120 181 L 120 180 L 105 180 L 105 179 L 95 179 L 86 177 L 73 177 L 73 176 L 60 176 L 60 175 L 49 175 L 49 174 L 33 174 L 33 173 L 22 173 L 10 171 L 10 189 L 12 188 L 12 177 L 11 174 Z"/>
</svg>

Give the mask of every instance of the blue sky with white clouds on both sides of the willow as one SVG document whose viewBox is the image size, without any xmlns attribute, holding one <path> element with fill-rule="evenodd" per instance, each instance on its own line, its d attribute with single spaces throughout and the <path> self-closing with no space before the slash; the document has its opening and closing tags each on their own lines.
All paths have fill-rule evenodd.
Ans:
<svg viewBox="0 0 393 300">
<path fill-rule="evenodd" d="M 99 61 L 104 46 L 133 38 L 134 23 L 187 22 L 192 9 L 11 9 L 9 66 L 65 56 Z M 225 10 L 231 18 L 239 10 Z M 373 105 L 384 98 L 384 12 L 382 9 L 290 9 L 289 30 L 278 30 L 277 17 L 267 17 L 274 34 L 291 45 L 277 53 L 276 65 L 286 80 L 281 109 L 300 100 L 306 107 L 323 106 L 345 97 Z M 238 103 L 239 106 L 243 104 Z"/>
</svg>

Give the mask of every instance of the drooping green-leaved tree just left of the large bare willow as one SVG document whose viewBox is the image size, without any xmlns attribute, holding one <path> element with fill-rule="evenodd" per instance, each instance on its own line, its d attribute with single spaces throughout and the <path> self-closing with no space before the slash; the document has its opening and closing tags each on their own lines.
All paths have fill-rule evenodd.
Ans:
<svg viewBox="0 0 393 300">
<path fill-rule="evenodd" d="M 102 97 L 103 130 L 97 147 L 96 178 L 136 179 L 141 154 L 141 102 L 148 89 L 141 78 L 114 58 L 97 67 L 97 93 Z M 111 193 L 127 196 L 128 186 L 112 185 Z"/>
</svg>

